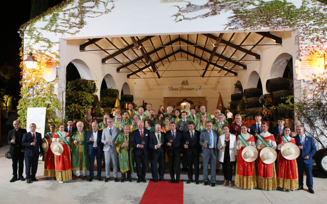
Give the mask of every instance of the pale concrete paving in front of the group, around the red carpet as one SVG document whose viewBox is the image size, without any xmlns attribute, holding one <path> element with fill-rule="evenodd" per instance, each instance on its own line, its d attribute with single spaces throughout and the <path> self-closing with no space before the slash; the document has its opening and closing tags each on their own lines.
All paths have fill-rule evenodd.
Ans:
<svg viewBox="0 0 327 204">
<path fill-rule="evenodd" d="M 120 183 L 110 180 L 106 183 L 78 179 L 60 184 L 43 176 L 44 163 L 40 161 L 36 175 L 39 181 L 27 184 L 26 181 L 18 180 L 10 183 L 12 162 L 3 156 L 8 149 L 9 146 L 0 148 L 0 203 L 139 203 L 149 181 L 147 179 L 146 183 L 136 183 L 135 173 L 133 182 Z M 102 176 L 104 179 L 104 172 Z M 151 174 L 147 174 L 146 178 L 150 177 Z M 184 177 L 182 179 L 186 179 Z M 166 174 L 165 179 L 168 178 L 169 175 Z M 244 190 L 236 186 L 222 186 L 223 181 L 219 178 L 217 177 L 215 187 L 204 186 L 203 181 L 199 185 L 186 184 L 184 181 L 184 203 L 327 203 L 327 179 L 313 178 L 315 194 L 310 194 L 307 190 Z M 306 189 L 306 186 L 304 188 Z M 167 203 L 170 203 L 169 195 Z"/>
</svg>

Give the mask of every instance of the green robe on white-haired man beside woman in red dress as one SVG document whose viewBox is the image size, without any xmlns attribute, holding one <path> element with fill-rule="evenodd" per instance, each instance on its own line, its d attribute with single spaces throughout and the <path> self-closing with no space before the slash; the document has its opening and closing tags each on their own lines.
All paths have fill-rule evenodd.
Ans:
<svg viewBox="0 0 327 204">
<path fill-rule="evenodd" d="M 78 131 L 75 131 L 70 137 L 72 145 L 72 170 L 87 169 L 90 166 L 89 154 L 87 153 L 88 145 L 86 144 L 87 131 L 83 131 L 82 135 L 79 135 Z M 82 145 L 74 144 L 74 140 L 82 141 Z"/>
</svg>

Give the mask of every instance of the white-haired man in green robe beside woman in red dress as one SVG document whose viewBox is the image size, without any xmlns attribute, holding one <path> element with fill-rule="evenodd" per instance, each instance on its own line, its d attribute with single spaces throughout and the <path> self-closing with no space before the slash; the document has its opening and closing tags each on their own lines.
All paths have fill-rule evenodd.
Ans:
<svg viewBox="0 0 327 204">
<path fill-rule="evenodd" d="M 88 145 L 86 144 L 87 131 L 83 130 L 83 122 L 78 121 L 76 123 L 77 131 L 75 131 L 71 137 L 72 141 L 72 170 L 76 177 L 74 180 L 80 178 L 81 173 L 83 175 L 83 180 L 86 180 L 87 169 L 90 166 Z"/>
</svg>

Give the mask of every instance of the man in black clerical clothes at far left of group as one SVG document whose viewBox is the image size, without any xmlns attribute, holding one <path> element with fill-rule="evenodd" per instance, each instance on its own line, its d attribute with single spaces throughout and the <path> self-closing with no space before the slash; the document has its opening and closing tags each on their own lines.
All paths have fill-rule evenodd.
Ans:
<svg viewBox="0 0 327 204">
<path fill-rule="evenodd" d="M 9 130 L 8 132 L 8 144 L 10 145 L 9 154 L 11 155 L 12 160 L 12 179 L 10 182 L 16 180 L 24 181 L 23 171 L 24 171 L 24 152 L 25 147 L 22 146 L 23 135 L 26 133 L 26 129 L 19 128 L 20 123 L 18 120 L 15 120 L 12 123 L 14 129 Z M 15 139 L 13 139 L 15 136 Z M 18 177 L 17 177 L 17 164 L 18 164 Z"/>
</svg>

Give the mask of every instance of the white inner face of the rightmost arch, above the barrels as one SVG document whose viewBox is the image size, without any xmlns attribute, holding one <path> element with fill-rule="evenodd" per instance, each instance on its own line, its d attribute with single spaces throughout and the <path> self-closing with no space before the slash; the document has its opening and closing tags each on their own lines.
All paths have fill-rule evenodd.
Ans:
<svg viewBox="0 0 327 204">
<path fill-rule="evenodd" d="M 288 53 L 282 53 L 278 55 L 271 65 L 269 79 L 283 77 L 286 65 L 288 61 L 292 58 L 292 55 Z"/>
</svg>

